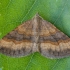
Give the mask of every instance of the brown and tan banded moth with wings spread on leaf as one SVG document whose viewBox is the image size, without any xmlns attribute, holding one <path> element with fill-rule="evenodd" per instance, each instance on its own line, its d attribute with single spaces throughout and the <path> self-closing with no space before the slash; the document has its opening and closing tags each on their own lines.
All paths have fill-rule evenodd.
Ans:
<svg viewBox="0 0 70 70">
<path fill-rule="evenodd" d="M 38 14 L 0 40 L 0 53 L 20 57 L 40 52 L 49 58 L 70 55 L 70 38 Z"/>
</svg>

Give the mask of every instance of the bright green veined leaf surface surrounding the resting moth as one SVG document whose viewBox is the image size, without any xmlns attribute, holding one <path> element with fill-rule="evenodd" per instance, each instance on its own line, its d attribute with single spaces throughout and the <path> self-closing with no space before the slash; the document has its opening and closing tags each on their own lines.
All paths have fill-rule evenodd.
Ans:
<svg viewBox="0 0 70 70">
<path fill-rule="evenodd" d="M 0 39 L 37 12 L 70 36 L 70 0 L 0 0 Z M 70 70 L 70 57 L 49 59 L 33 53 L 12 58 L 0 54 L 0 70 Z"/>
</svg>

